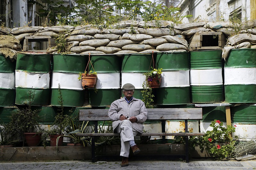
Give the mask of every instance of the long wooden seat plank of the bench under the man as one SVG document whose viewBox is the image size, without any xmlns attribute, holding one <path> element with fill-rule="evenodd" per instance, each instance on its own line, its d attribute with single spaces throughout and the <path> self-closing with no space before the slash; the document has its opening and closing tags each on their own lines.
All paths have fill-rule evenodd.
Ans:
<svg viewBox="0 0 256 170">
<path fill-rule="evenodd" d="M 204 133 L 138 133 L 137 136 L 203 136 Z M 76 136 L 120 136 L 119 133 L 76 133 Z"/>
</svg>

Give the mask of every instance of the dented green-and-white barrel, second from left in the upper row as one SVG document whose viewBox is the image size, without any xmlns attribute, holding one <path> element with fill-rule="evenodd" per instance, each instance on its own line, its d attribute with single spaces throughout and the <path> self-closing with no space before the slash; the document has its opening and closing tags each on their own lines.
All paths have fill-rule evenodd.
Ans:
<svg viewBox="0 0 256 170">
<path fill-rule="evenodd" d="M 28 105 L 29 101 L 33 106 L 50 104 L 50 62 L 50 54 L 18 52 L 15 70 L 15 104 Z"/>
</svg>

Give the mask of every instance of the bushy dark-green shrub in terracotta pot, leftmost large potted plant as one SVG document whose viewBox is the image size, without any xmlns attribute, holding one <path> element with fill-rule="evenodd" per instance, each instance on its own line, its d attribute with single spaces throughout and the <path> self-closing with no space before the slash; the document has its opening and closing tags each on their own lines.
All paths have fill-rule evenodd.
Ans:
<svg viewBox="0 0 256 170">
<path fill-rule="evenodd" d="M 9 116 L 10 122 L 5 126 L 5 133 L 10 134 L 15 140 L 24 137 L 28 146 L 37 146 L 44 132 L 44 129 L 42 129 L 40 125 L 43 116 L 39 115 L 41 109 L 31 108 L 35 92 L 30 90 L 28 91 L 28 95 L 28 107 L 23 109 L 17 108 L 12 112 Z"/>
</svg>

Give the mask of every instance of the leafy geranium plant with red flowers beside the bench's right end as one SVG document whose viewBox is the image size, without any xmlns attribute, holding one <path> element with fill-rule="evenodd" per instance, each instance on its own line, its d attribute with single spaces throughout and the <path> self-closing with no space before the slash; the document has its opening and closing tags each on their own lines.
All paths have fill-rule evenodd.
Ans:
<svg viewBox="0 0 256 170">
<path fill-rule="evenodd" d="M 212 130 L 206 131 L 204 136 L 189 137 L 189 148 L 195 149 L 195 146 L 199 146 L 201 152 L 205 150 L 217 159 L 232 157 L 236 141 L 231 137 L 231 133 L 235 132 L 235 127 L 227 125 L 226 128 L 219 120 L 212 121 L 210 127 Z M 174 143 L 185 143 L 184 137 L 174 138 Z"/>
</svg>

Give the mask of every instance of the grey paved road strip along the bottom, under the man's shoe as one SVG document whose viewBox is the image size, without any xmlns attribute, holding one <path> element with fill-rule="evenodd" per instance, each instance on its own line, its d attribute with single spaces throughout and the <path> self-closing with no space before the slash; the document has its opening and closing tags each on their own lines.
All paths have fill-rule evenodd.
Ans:
<svg viewBox="0 0 256 170">
<path fill-rule="evenodd" d="M 13 169 L 13 170 L 90 170 L 90 169 L 124 169 L 124 170 L 219 170 L 219 169 L 232 169 L 232 170 L 244 170 L 244 169 L 256 169 L 255 160 L 247 161 L 190 161 L 189 163 L 180 161 L 130 161 L 129 166 L 121 167 L 120 161 L 111 162 L 96 162 L 91 161 L 59 161 L 59 162 L 12 162 L 12 163 L 0 163 L 0 169 Z"/>
</svg>

